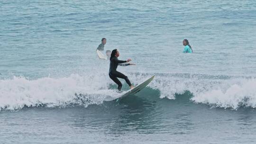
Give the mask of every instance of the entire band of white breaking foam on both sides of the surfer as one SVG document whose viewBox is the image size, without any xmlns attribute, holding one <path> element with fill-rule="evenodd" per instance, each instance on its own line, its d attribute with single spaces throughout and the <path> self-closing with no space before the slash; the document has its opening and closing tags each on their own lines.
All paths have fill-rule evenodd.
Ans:
<svg viewBox="0 0 256 144">
<path fill-rule="evenodd" d="M 128 73 L 136 85 L 151 76 L 150 73 Z M 124 82 L 124 81 L 122 81 Z M 158 73 L 149 84 L 160 91 L 160 99 L 175 99 L 175 94 L 190 91 L 191 101 L 219 108 L 237 109 L 240 106 L 256 108 L 256 79 L 244 77 L 212 77 L 190 74 Z M 126 84 L 123 90 L 126 90 Z M 13 77 L 0 80 L 0 108 L 66 107 L 69 105 L 102 104 L 120 97 L 108 75 L 72 74 L 64 78 L 29 80 Z"/>
</svg>

